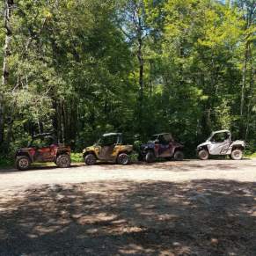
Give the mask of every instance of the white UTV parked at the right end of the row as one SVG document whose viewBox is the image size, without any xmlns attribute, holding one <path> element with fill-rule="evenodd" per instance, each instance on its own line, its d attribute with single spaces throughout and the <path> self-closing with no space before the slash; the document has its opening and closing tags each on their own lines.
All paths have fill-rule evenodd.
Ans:
<svg viewBox="0 0 256 256">
<path fill-rule="evenodd" d="M 197 154 L 201 160 L 212 156 L 230 156 L 233 160 L 240 160 L 245 150 L 244 141 L 232 141 L 229 130 L 213 132 L 205 143 L 197 146 Z"/>
</svg>

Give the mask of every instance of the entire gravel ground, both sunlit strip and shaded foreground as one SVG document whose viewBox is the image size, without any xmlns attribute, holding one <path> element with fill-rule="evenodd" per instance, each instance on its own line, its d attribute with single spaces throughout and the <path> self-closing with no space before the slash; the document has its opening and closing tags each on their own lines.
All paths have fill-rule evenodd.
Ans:
<svg viewBox="0 0 256 256">
<path fill-rule="evenodd" d="M 256 255 L 256 159 L 0 170 L 0 255 Z"/>
</svg>

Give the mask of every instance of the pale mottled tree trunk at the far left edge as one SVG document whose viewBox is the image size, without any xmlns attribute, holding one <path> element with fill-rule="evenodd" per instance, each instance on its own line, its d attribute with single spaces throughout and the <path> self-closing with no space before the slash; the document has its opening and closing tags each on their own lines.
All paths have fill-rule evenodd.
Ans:
<svg viewBox="0 0 256 256">
<path fill-rule="evenodd" d="M 5 28 L 5 43 L 4 43 L 4 60 L 2 74 L 2 88 L 0 90 L 0 146 L 4 143 L 4 89 L 9 80 L 8 57 L 11 55 L 11 10 L 14 6 L 13 0 L 5 0 L 4 6 L 4 28 Z"/>
</svg>

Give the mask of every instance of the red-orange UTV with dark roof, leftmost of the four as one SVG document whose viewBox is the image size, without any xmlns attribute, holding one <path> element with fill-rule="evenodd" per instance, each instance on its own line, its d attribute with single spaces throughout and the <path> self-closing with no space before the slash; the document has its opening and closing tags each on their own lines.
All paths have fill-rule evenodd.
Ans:
<svg viewBox="0 0 256 256">
<path fill-rule="evenodd" d="M 64 144 L 56 143 L 51 134 L 35 135 L 26 148 L 17 150 L 16 167 L 24 171 L 29 169 L 35 162 L 46 163 L 54 162 L 61 168 L 70 166 L 70 148 Z"/>
</svg>

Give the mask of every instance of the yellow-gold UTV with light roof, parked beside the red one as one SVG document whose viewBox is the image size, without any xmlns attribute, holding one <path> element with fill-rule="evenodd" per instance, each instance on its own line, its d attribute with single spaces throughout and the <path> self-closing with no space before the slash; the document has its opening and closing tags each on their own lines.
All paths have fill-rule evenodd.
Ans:
<svg viewBox="0 0 256 256">
<path fill-rule="evenodd" d="M 97 161 L 128 165 L 132 151 L 132 145 L 122 144 L 121 133 L 109 133 L 102 135 L 98 143 L 84 149 L 83 157 L 86 165 L 95 165 Z"/>
</svg>

